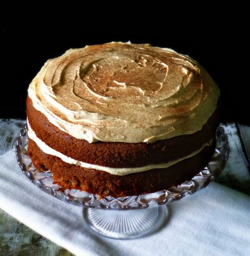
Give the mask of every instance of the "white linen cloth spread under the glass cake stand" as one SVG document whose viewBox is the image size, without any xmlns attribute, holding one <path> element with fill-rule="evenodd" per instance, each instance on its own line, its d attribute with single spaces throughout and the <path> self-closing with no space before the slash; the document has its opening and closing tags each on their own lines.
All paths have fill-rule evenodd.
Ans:
<svg viewBox="0 0 250 256">
<path fill-rule="evenodd" d="M 0 208 L 76 255 L 250 255 L 249 196 L 211 182 L 167 207 L 165 225 L 151 235 L 102 237 L 85 226 L 82 207 L 34 186 L 14 150 L 0 157 Z"/>
</svg>

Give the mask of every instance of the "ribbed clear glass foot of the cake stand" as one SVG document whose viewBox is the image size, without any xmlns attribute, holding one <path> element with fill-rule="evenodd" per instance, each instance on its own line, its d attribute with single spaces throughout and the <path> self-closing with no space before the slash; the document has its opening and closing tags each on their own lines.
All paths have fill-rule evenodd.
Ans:
<svg viewBox="0 0 250 256">
<path fill-rule="evenodd" d="M 85 223 L 94 232 L 115 239 L 132 239 L 157 230 L 167 218 L 167 207 L 109 211 L 83 208 Z"/>
</svg>

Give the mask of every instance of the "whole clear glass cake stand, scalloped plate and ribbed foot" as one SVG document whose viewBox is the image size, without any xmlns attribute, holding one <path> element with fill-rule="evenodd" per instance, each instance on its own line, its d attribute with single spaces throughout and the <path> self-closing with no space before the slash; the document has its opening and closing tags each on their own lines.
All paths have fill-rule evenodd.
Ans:
<svg viewBox="0 0 250 256">
<path fill-rule="evenodd" d="M 194 194 L 206 187 L 223 170 L 228 159 L 229 144 L 222 126 L 216 132 L 216 149 L 211 161 L 193 179 L 180 186 L 156 193 L 114 198 L 89 194 L 76 189 L 63 190 L 53 183 L 50 170 L 37 171 L 27 153 L 27 126 L 16 142 L 16 157 L 23 173 L 41 190 L 76 206 L 83 207 L 85 224 L 101 235 L 131 239 L 156 231 L 167 219 L 165 204 Z"/>
</svg>

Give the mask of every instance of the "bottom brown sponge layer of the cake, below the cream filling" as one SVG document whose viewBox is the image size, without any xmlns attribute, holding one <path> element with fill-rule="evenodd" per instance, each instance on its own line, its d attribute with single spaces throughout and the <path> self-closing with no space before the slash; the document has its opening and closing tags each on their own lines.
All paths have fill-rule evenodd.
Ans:
<svg viewBox="0 0 250 256">
<path fill-rule="evenodd" d="M 44 153 L 36 143 L 28 139 L 28 154 L 34 166 L 40 170 L 50 169 L 56 184 L 63 188 L 80 189 L 100 196 L 131 196 L 168 189 L 194 177 L 203 169 L 215 149 L 215 142 L 193 157 L 162 169 L 153 169 L 125 176 L 87 169 L 64 162 L 58 157 Z"/>
</svg>

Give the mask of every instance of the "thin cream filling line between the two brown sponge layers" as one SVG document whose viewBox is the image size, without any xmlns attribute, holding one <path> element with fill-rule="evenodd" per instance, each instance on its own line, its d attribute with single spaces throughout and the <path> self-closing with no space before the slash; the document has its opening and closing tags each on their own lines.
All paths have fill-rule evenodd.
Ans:
<svg viewBox="0 0 250 256">
<path fill-rule="evenodd" d="M 75 164 L 77 166 L 81 166 L 83 168 L 88 168 L 88 169 L 95 169 L 95 170 L 100 170 L 100 171 L 105 171 L 110 173 L 111 175 L 118 175 L 118 176 L 124 176 L 128 175 L 130 173 L 137 173 L 137 172 L 142 172 L 142 171 L 148 171 L 152 169 L 162 169 L 162 168 L 167 168 L 169 166 L 172 166 L 173 164 L 180 162 L 186 158 L 190 158 L 198 154 L 201 150 L 203 150 L 206 146 L 209 146 L 213 143 L 213 139 L 211 139 L 208 143 L 205 143 L 201 148 L 198 150 L 192 152 L 186 157 L 178 158 L 174 161 L 169 161 L 167 163 L 156 163 L 156 164 L 148 164 L 147 166 L 142 166 L 142 167 L 132 167 L 132 168 L 113 168 L 113 167 L 105 167 L 105 166 L 99 166 L 97 164 L 91 164 L 91 163 L 86 163 L 86 162 L 81 162 L 78 160 L 75 160 L 73 158 L 67 157 L 64 154 L 52 149 L 49 147 L 46 143 L 44 143 L 42 140 L 37 138 L 35 132 L 32 130 L 30 124 L 28 123 L 28 138 L 33 140 L 36 145 L 46 154 L 50 154 L 51 156 L 59 157 L 62 161 L 70 164 Z"/>
</svg>

